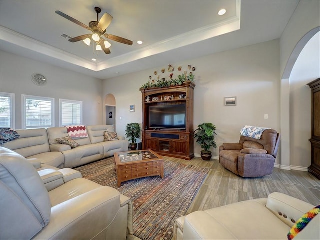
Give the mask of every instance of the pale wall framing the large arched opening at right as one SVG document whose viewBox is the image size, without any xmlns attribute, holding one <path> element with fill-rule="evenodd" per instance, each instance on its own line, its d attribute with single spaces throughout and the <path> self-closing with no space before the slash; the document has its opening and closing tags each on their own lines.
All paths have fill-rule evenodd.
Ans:
<svg viewBox="0 0 320 240">
<path fill-rule="evenodd" d="M 284 169 L 290 169 L 291 148 L 301 148 L 301 145 L 292 145 L 291 135 L 298 135 L 300 128 L 290 127 L 292 116 L 290 113 L 290 74 L 292 68 L 305 44 L 320 30 L 320 1 L 299 1 L 290 21 L 286 25 L 280 38 L 280 125 L 281 125 L 281 162 Z M 313 65 L 313 62 L 310 62 Z M 301 99 L 305 100 L 305 99 Z M 309 98 L 307 99 L 307 102 Z M 306 103 L 307 104 L 307 103 Z M 310 115 L 311 112 L 308 113 Z M 292 132 L 291 132 L 292 131 Z M 303 166 L 310 165 L 306 159 Z M 293 164 L 296 164 L 295 162 Z"/>
</svg>

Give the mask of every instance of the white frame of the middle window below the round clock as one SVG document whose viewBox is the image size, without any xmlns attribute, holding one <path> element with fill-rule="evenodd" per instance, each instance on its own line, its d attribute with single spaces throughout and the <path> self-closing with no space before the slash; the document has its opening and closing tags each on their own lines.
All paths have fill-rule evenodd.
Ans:
<svg viewBox="0 0 320 240">
<path fill-rule="evenodd" d="M 50 101 L 51 102 L 51 125 L 38 125 L 38 126 L 27 127 L 27 123 L 26 123 L 26 100 L 27 99 L 38 100 L 38 101 Z M 22 106 L 21 107 L 22 108 L 22 129 L 54 127 L 54 98 L 22 94 L 21 101 L 22 101 L 22 103 L 21 103 L 21 106 Z"/>
</svg>

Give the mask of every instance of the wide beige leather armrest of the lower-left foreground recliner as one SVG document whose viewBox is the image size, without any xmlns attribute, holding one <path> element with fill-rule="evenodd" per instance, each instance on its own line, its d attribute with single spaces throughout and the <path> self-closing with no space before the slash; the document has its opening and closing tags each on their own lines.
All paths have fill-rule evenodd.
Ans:
<svg viewBox="0 0 320 240">
<path fill-rule="evenodd" d="M 110 227 L 119 217 L 121 224 Z M 53 206 L 49 224 L 34 239 L 125 239 L 126 223 L 127 217 L 120 215 L 120 193 L 101 186 Z"/>
</svg>

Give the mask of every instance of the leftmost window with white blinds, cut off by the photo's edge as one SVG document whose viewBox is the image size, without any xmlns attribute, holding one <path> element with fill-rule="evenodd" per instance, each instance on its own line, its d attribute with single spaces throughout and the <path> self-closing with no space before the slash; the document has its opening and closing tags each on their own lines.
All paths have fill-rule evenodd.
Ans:
<svg viewBox="0 0 320 240">
<path fill-rule="evenodd" d="M 15 128 L 14 93 L 0 93 L 0 127 Z"/>
</svg>

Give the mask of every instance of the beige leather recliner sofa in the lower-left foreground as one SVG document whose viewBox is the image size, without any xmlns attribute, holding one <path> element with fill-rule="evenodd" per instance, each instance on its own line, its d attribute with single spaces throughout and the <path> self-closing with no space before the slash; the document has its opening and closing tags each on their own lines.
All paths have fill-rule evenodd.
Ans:
<svg viewBox="0 0 320 240">
<path fill-rule="evenodd" d="M 126 239 L 132 201 L 116 189 L 74 176 L 47 190 L 23 156 L 0 147 L 1 239 Z M 74 173 L 74 172 L 73 172 Z"/>
</svg>

